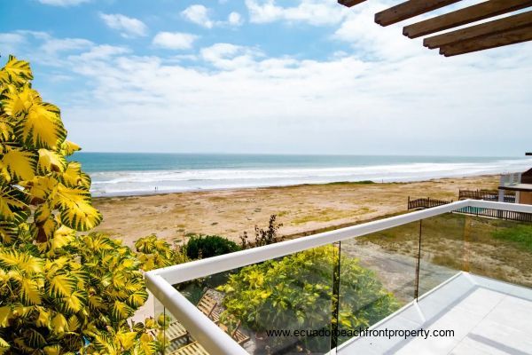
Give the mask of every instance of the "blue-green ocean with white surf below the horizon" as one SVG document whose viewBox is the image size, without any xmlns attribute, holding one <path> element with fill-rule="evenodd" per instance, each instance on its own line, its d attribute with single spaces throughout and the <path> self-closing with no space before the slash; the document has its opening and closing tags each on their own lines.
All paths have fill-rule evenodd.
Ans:
<svg viewBox="0 0 532 355">
<path fill-rule="evenodd" d="M 530 157 L 75 153 L 95 196 L 518 172 Z"/>
</svg>

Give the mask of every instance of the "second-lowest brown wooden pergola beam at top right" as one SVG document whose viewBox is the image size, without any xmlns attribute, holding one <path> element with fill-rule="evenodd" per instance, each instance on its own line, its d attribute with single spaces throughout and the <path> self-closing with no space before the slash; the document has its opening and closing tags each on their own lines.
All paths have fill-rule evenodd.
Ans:
<svg viewBox="0 0 532 355">
<path fill-rule="evenodd" d="M 532 25 L 532 11 L 508 16 L 504 19 L 489 21 L 469 28 L 458 29 L 442 35 L 427 37 L 423 40 L 423 45 L 430 49 L 434 49 L 441 47 L 442 45 L 458 43 L 460 41 L 482 36 L 497 35 L 501 32 L 530 25 Z"/>
</svg>

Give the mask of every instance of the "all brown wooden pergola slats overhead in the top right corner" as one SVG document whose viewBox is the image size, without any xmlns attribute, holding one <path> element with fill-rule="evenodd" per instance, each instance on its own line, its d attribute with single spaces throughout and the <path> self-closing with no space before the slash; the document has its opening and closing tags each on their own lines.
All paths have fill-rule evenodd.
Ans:
<svg viewBox="0 0 532 355">
<path fill-rule="evenodd" d="M 351 7 L 365 0 L 338 0 Z M 408 0 L 375 14 L 375 22 L 388 26 L 408 20 L 420 14 L 444 9 L 461 0 Z M 522 12 L 531 8 L 531 11 Z M 516 13 L 512 13 L 516 12 Z M 510 16 L 473 24 L 480 20 L 510 13 Z M 403 28 L 403 35 L 409 38 L 433 35 L 438 32 L 473 24 L 467 28 L 455 29 L 440 35 L 426 37 L 423 45 L 430 49 L 439 48 L 440 54 L 450 57 L 472 51 L 483 51 L 513 43 L 532 40 L 532 0 L 488 0 L 462 9 L 434 16 L 412 23 Z"/>
</svg>

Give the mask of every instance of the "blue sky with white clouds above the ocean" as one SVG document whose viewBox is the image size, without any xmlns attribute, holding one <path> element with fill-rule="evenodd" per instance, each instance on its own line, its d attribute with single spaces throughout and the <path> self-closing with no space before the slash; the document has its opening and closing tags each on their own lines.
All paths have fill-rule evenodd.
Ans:
<svg viewBox="0 0 532 355">
<path fill-rule="evenodd" d="M 397 3 L 0 0 L 0 62 L 88 152 L 532 150 L 532 43 L 444 58 L 373 22 Z"/>
</svg>

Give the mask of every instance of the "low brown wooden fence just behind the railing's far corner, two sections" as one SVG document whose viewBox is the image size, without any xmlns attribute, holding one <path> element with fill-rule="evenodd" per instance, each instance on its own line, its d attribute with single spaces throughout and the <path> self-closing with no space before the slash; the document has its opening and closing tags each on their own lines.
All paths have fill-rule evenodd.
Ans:
<svg viewBox="0 0 532 355">
<path fill-rule="evenodd" d="M 448 204 L 452 201 L 444 200 L 435 200 L 430 197 L 422 199 L 411 200 L 410 196 L 408 197 L 408 209 L 430 209 L 436 206 L 442 206 Z M 509 210 L 502 209 L 483 209 L 479 207 L 464 207 L 462 209 L 457 209 L 458 213 L 465 213 L 466 215 L 473 215 L 479 217 L 491 217 L 499 219 L 507 219 L 511 221 L 519 222 L 532 222 L 532 213 L 524 212 L 513 212 Z"/>
</svg>

